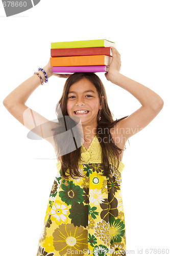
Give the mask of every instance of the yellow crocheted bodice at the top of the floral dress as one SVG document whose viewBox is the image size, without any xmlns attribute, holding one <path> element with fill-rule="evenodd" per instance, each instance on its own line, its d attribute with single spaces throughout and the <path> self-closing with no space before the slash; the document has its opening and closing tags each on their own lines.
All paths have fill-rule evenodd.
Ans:
<svg viewBox="0 0 170 256">
<path fill-rule="evenodd" d="M 98 140 L 98 134 L 95 135 L 95 137 L 93 138 L 88 150 L 85 149 L 85 147 L 81 146 L 80 148 L 80 158 L 78 161 L 78 164 L 88 164 L 88 163 L 102 163 L 102 147 L 101 144 Z M 112 158 L 112 161 L 114 164 L 116 164 L 117 166 L 117 158 L 115 158 L 115 162 L 114 162 L 114 158 Z M 111 164 L 111 159 L 109 158 L 109 163 Z M 57 162 L 57 169 L 60 170 L 61 169 L 61 162 Z M 121 173 L 122 170 L 124 169 L 125 165 L 123 164 L 123 162 L 119 161 L 119 167 L 118 167 L 118 171 Z"/>
</svg>

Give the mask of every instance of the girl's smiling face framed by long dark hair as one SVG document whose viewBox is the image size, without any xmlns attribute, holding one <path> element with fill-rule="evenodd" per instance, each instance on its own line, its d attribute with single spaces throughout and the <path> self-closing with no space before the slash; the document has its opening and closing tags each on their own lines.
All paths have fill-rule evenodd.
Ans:
<svg viewBox="0 0 170 256">
<path fill-rule="evenodd" d="M 67 95 L 67 113 L 77 116 L 82 125 L 97 125 L 97 115 L 102 106 L 99 102 L 98 91 L 94 84 L 86 78 L 72 84 Z M 87 110 L 88 113 L 76 113 L 78 110 Z"/>
</svg>

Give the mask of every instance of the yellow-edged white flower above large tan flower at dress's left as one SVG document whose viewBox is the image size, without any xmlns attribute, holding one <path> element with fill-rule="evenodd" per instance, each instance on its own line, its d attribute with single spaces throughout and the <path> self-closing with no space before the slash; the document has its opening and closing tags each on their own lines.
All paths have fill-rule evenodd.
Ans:
<svg viewBox="0 0 170 256">
<path fill-rule="evenodd" d="M 51 209 L 51 220 L 56 221 L 56 224 L 68 222 L 68 206 L 60 201 L 55 201 Z"/>
</svg>

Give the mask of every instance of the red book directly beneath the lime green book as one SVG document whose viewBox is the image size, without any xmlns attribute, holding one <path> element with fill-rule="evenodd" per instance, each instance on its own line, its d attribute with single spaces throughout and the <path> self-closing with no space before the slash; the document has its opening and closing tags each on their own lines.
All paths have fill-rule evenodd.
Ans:
<svg viewBox="0 0 170 256">
<path fill-rule="evenodd" d="M 51 49 L 51 57 L 87 56 L 87 55 L 112 56 L 112 50 L 110 47 Z"/>
</svg>

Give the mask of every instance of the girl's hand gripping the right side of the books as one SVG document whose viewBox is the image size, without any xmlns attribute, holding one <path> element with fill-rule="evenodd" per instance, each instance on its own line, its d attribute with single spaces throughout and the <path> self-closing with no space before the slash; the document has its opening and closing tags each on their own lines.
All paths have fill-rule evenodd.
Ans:
<svg viewBox="0 0 170 256">
<path fill-rule="evenodd" d="M 109 67 L 109 71 L 108 73 L 105 73 L 105 76 L 107 80 L 113 81 L 114 76 L 117 75 L 117 73 L 119 73 L 119 70 L 121 67 L 121 61 L 120 61 L 120 54 L 116 50 L 116 48 L 114 48 L 113 46 L 111 46 L 110 48 L 112 49 L 113 56 L 112 56 L 112 61 Z"/>
</svg>

